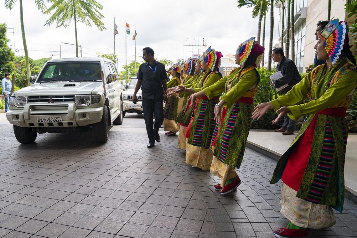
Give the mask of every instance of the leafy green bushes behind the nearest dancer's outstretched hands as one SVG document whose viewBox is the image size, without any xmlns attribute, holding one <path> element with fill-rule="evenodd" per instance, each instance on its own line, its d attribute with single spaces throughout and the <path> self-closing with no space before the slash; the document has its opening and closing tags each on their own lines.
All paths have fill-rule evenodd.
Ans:
<svg viewBox="0 0 357 238">
<path fill-rule="evenodd" d="M 269 76 L 275 73 L 275 70 L 268 71 L 265 68 L 257 69 L 260 75 L 260 83 L 258 86 L 258 94 L 254 97 L 254 106 L 262 102 L 269 102 L 276 99 L 280 94 L 270 85 L 271 80 Z M 281 124 L 273 124 L 272 120 L 277 117 L 274 110 L 269 110 L 259 120 L 252 121 L 251 128 L 254 129 L 275 129 L 280 128 Z"/>
</svg>

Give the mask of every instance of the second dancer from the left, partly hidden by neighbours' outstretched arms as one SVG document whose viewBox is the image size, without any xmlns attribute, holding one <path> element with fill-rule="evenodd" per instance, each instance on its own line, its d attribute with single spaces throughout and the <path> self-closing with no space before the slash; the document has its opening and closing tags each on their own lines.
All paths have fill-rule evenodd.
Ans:
<svg viewBox="0 0 357 238">
<path fill-rule="evenodd" d="M 186 88 L 195 88 L 196 83 L 200 77 L 201 74 L 201 69 L 200 69 L 200 64 L 196 64 L 197 59 L 191 59 L 189 58 L 183 67 L 185 68 L 188 76 L 185 80 L 185 83 L 183 83 L 181 86 L 185 86 Z M 190 101 L 188 101 L 188 97 L 190 94 L 183 92 L 182 93 L 185 96 L 185 99 L 183 101 L 183 107 L 182 110 L 178 113 L 177 115 L 177 123 L 179 123 L 179 133 L 178 133 L 178 139 L 177 139 L 177 147 L 182 150 L 186 150 L 186 130 L 187 126 L 191 121 L 192 115 L 193 115 L 193 108 L 190 107 Z"/>
</svg>

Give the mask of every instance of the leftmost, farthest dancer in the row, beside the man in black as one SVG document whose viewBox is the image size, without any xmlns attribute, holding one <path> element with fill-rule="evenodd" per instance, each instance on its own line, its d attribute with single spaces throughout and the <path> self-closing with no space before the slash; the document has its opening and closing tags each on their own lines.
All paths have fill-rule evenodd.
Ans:
<svg viewBox="0 0 357 238">
<path fill-rule="evenodd" d="M 181 69 L 182 64 L 177 62 L 172 66 L 172 79 L 167 82 L 167 88 L 172 88 L 181 84 Z M 164 108 L 164 131 L 167 136 L 175 135 L 178 131 L 176 117 L 177 117 L 178 98 L 175 95 L 168 97 Z"/>
</svg>

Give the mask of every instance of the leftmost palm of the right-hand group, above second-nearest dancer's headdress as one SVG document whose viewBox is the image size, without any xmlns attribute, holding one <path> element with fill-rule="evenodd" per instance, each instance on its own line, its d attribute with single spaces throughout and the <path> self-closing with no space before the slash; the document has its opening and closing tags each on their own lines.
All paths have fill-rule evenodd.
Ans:
<svg viewBox="0 0 357 238">
<path fill-rule="evenodd" d="M 265 15 L 269 9 L 268 1 L 267 0 L 238 0 L 237 2 L 238 2 L 238 8 L 241 8 L 243 6 L 253 7 L 253 10 L 252 10 L 253 18 L 256 18 L 259 16 L 257 41 L 260 44 L 262 19 L 263 19 L 263 17 L 265 17 Z"/>
</svg>

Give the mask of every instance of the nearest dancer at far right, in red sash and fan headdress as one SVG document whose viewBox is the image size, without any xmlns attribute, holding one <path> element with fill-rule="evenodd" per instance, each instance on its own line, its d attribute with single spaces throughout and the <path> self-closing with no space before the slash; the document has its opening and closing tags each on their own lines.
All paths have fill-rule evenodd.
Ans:
<svg viewBox="0 0 357 238">
<path fill-rule="evenodd" d="M 307 228 L 322 229 L 336 223 L 331 207 L 342 212 L 345 116 L 357 85 L 356 61 L 347 33 L 346 22 L 331 20 L 315 45 L 317 59 L 326 60 L 326 64 L 309 72 L 286 95 L 254 108 L 253 118 L 257 119 L 271 108 L 277 110 L 273 123 L 286 114 L 293 120 L 306 116 L 270 181 L 282 179 L 280 212 L 290 221 L 274 232 L 276 237 L 307 237 Z M 300 104 L 306 98 L 309 102 Z"/>
</svg>

